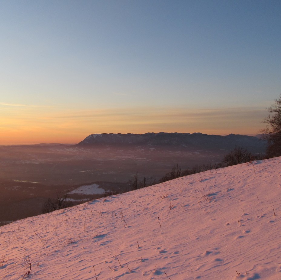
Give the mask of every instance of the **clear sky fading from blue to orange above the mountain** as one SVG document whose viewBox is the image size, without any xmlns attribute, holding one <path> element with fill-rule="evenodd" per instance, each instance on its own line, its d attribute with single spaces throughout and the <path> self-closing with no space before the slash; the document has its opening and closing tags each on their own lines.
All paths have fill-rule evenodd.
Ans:
<svg viewBox="0 0 281 280">
<path fill-rule="evenodd" d="M 256 135 L 281 93 L 280 1 L 0 2 L 0 145 Z"/>
</svg>

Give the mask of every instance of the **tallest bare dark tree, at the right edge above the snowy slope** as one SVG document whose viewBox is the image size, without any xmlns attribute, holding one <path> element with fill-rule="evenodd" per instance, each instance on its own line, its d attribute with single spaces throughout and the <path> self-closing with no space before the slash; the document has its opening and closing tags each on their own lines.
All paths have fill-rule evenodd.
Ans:
<svg viewBox="0 0 281 280">
<path fill-rule="evenodd" d="M 281 155 L 281 95 L 274 100 L 275 103 L 268 107 L 269 115 L 263 120 L 266 128 L 262 129 L 263 139 L 268 140 L 267 156 Z"/>
</svg>

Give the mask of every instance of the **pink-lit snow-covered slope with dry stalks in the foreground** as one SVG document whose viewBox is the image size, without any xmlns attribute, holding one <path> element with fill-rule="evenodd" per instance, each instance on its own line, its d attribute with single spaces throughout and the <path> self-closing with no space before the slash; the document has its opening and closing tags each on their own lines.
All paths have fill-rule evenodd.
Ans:
<svg viewBox="0 0 281 280">
<path fill-rule="evenodd" d="M 206 171 L 2 226 L 0 278 L 281 279 L 280 166 Z"/>
</svg>

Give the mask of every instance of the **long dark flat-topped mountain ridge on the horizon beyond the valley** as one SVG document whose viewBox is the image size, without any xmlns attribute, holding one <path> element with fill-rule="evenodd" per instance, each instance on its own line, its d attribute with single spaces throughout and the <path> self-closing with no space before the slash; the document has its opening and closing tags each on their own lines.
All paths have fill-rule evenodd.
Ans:
<svg viewBox="0 0 281 280">
<path fill-rule="evenodd" d="M 240 146 L 254 153 L 263 153 L 266 141 L 254 136 L 230 134 L 226 136 L 208 135 L 202 133 L 145 133 L 145 134 L 121 134 L 103 133 L 91 134 L 78 146 L 169 146 L 187 147 L 196 150 L 231 150 L 235 146 Z"/>
</svg>

